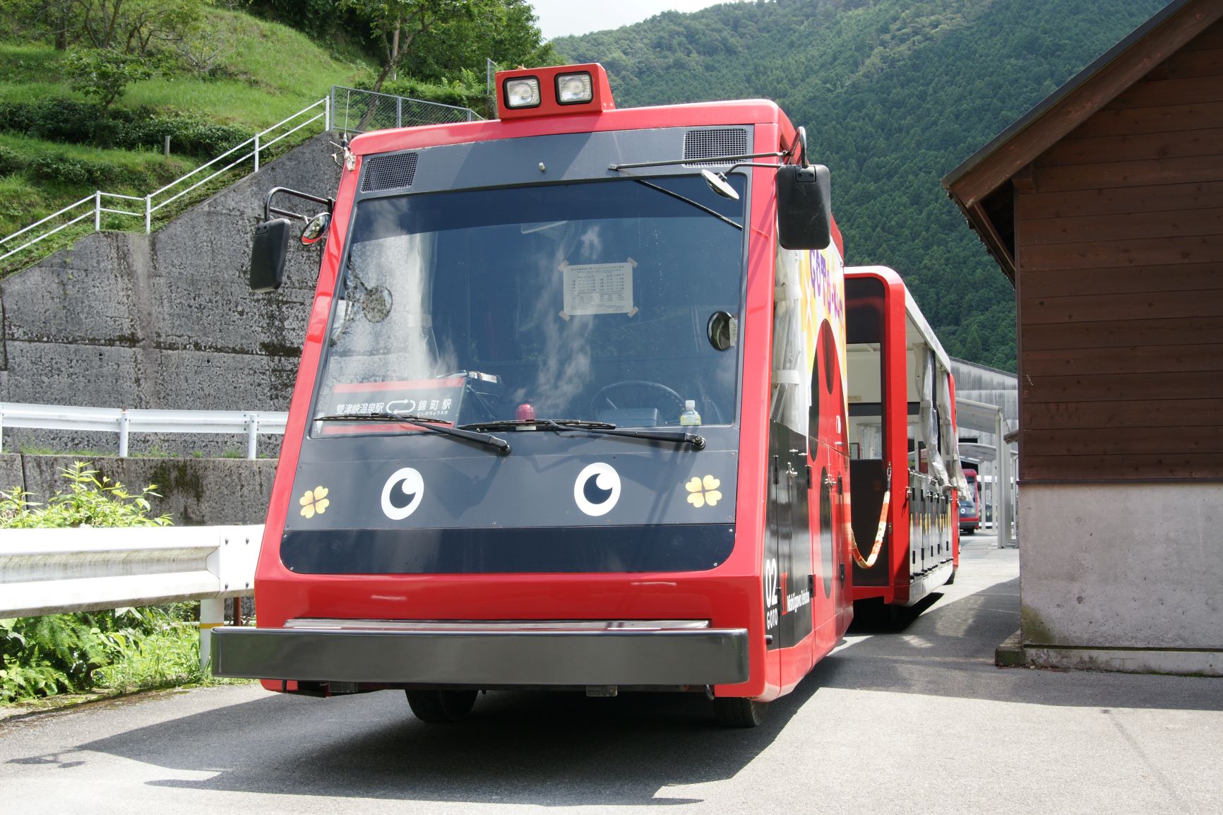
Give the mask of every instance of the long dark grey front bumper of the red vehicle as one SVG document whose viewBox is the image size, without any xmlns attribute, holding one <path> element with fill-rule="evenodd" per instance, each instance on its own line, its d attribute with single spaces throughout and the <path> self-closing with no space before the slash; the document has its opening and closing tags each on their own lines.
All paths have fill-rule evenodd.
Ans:
<svg viewBox="0 0 1223 815">
<path fill-rule="evenodd" d="M 564 623 L 292 620 L 213 629 L 213 673 L 412 685 L 715 685 L 746 682 L 747 629 Z"/>
</svg>

